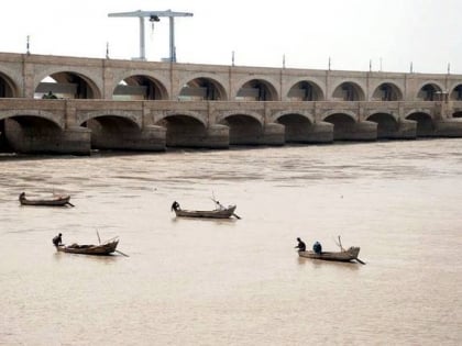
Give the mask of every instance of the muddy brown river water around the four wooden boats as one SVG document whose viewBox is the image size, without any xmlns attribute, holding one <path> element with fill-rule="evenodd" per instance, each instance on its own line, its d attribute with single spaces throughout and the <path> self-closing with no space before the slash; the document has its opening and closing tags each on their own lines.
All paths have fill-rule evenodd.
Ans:
<svg viewBox="0 0 462 346">
<path fill-rule="evenodd" d="M 3 157 L 0 181 L 0 345 L 461 343 L 462 139 Z M 213 196 L 241 220 L 170 212 Z M 52 246 L 97 232 L 130 257 Z M 294 249 L 339 235 L 366 265 Z"/>
</svg>

